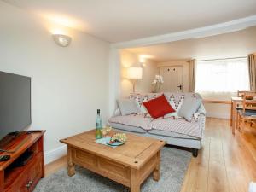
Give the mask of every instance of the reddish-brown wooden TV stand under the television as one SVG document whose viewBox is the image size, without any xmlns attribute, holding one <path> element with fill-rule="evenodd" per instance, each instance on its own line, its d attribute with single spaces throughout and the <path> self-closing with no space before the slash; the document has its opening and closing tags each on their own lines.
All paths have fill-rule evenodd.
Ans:
<svg viewBox="0 0 256 192">
<path fill-rule="evenodd" d="M 0 192 L 32 191 L 44 177 L 44 132 L 24 132 L 4 148 L 15 153 L 9 154 L 8 161 L 0 162 Z M 15 160 L 27 151 L 33 152 L 32 158 L 26 165 L 15 167 Z"/>
</svg>

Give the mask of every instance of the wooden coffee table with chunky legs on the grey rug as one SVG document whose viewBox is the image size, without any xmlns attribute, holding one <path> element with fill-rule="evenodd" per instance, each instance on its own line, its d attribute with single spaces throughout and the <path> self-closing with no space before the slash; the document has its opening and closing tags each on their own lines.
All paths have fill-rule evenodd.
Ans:
<svg viewBox="0 0 256 192">
<path fill-rule="evenodd" d="M 111 131 L 110 135 L 115 131 Z M 61 139 L 67 144 L 67 172 L 75 174 L 74 165 L 83 166 L 113 181 L 140 191 L 140 185 L 153 172 L 160 179 L 160 150 L 166 144 L 150 137 L 127 133 L 124 145 L 112 148 L 96 143 L 95 130 Z"/>
</svg>

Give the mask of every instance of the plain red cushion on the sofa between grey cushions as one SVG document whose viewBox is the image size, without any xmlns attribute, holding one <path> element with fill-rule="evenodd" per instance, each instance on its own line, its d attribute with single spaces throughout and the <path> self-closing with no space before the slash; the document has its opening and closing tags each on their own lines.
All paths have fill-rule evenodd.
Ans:
<svg viewBox="0 0 256 192">
<path fill-rule="evenodd" d="M 173 113 L 175 110 L 166 100 L 166 96 L 163 94 L 155 99 L 149 100 L 148 102 L 143 102 L 145 108 L 147 108 L 148 113 L 154 119 L 165 116 L 167 113 Z"/>
</svg>

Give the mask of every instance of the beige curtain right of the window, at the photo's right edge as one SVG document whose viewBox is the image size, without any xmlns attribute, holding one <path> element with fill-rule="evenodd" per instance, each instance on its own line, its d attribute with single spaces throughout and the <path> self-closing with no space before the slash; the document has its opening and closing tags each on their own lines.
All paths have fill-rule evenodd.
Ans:
<svg viewBox="0 0 256 192">
<path fill-rule="evenodd" d="M 250 90 L 256 92 L 256 55 L 248 55 Z"/>
</svg>

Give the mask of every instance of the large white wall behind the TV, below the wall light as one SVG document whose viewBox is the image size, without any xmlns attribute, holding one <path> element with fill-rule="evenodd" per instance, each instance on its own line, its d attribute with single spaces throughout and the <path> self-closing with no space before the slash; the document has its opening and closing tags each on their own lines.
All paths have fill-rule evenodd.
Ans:
<svg viewBox="0 0 256 192">
<path fill-rule="evenodd" d="M 46 154 L 59 139 L 95 127 L 108 113 L 109 44 L 69 28 L 73 41 L 56 45 L 44 22 L 0 1 L 0 71 L 32 78 L 32 125 L 44 129 Z"/>
</svg>

